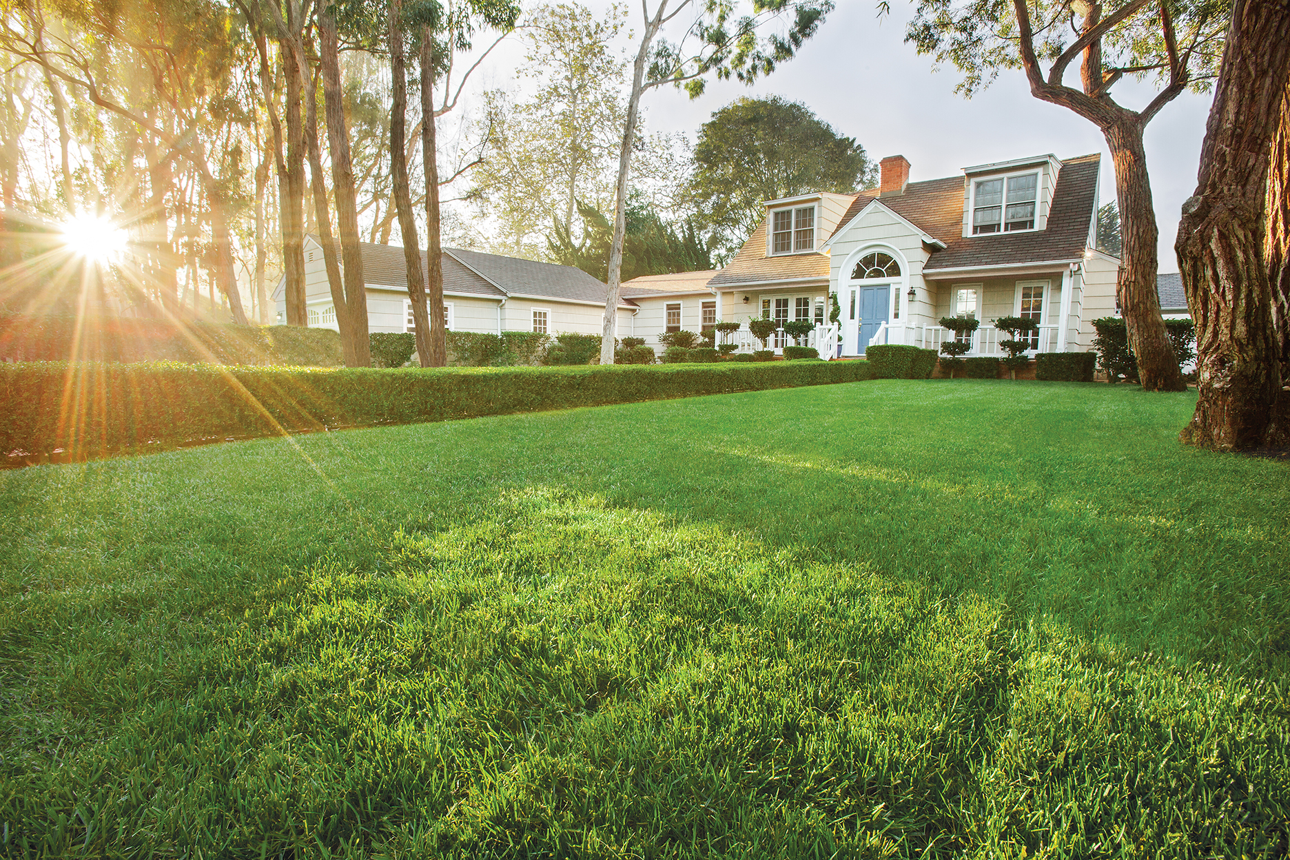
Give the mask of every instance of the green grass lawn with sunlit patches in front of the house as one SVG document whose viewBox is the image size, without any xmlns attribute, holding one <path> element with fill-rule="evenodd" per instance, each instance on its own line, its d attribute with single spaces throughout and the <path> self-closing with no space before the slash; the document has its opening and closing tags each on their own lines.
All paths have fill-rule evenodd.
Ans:
<svg viewBox="0 0 1290 860">
<path fill-rule="evenodd" d="M 0 473 L 0 855 L 1284 856 L 1290 468 L 877 380 Z"/>
</svg>

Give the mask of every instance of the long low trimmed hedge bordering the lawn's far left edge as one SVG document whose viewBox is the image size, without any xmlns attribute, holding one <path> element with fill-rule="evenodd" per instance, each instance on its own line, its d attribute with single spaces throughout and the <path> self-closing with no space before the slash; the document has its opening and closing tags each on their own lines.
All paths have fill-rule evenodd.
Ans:
<svg viewBox="0 0 1290 860">
<path fill-rule="evenodd" d="M 410 424 L 872 378 L 862 361 L 321 369 L 0 365 L 0 455 L 31 462 L 341 427 Z"/>
</svg>

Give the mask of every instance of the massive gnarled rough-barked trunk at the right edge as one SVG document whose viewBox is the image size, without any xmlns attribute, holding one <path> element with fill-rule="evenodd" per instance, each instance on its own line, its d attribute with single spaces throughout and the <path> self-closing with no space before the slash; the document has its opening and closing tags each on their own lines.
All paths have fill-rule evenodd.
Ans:
<svg viewBox="0 0 1290 860">
<path fill-rule="evenodd" d="M 1183 204 L 1174 245 L 1196 321 L 1200 398 L 1180 433 L 1192 445 L 1256 447 L 1276 431 L 1280 348 L 1264 218 L 1287 85 L 1290 4 L 1236 0 L 1196 195 Z"/>
</svg>

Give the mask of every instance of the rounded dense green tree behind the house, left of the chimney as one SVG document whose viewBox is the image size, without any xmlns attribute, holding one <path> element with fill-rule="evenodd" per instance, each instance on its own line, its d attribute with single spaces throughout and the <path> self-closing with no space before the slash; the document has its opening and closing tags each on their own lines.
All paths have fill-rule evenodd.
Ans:
<svg viewBox="0 0 1290 860">
<path fill-rule="evenodd" d="M 817 191 L 854 192 L 875 179 L 855 138 L 838 135 L 805 104 L 740 97 L 712 113 L 694 147 L 694 195 L 733 255 L 766 217 L 764 201 Z"/>
</svg>

